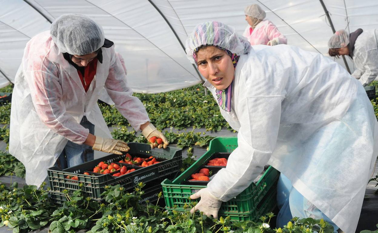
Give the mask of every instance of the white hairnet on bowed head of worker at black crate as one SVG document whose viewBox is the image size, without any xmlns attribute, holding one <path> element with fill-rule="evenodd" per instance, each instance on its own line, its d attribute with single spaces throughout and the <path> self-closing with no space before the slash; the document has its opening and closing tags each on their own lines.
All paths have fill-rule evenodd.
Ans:
<svg viewBox="0 0 378 233">
<path fill-rule="evenodd" d="M 85 55 L 104 45 L 102 27 L 81 14 L 64 14 L 51 24 L 50 34 L 60 52 Z"/>
</svg>

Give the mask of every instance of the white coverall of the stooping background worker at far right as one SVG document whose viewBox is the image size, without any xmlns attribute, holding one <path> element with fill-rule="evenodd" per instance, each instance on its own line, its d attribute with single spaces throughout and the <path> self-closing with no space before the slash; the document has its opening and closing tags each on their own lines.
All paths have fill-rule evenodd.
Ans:
<svg viewBox="0 0 378 233">
<path fill-rule="evenodd" d="M 355 42 L 353 62 L 356 69 L 352 76 L 364 86 L 378 77 L 378 29 L 364 31 Z"/>
</svg>

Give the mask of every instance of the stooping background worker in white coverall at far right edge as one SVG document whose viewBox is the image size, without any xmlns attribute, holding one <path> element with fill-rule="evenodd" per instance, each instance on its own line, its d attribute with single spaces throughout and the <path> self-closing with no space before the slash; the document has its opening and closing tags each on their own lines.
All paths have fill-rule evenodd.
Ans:
<svg viewBox="0 0 378 233">
<path fill-rule="evenodd" d="M 378 78 L 378 29 L 352 33 L 339 30 L 328 41 L 331 57 L 348 55 L 353 59 L 356 69 L 352 76 L 366 86 Z"/>
</svg>

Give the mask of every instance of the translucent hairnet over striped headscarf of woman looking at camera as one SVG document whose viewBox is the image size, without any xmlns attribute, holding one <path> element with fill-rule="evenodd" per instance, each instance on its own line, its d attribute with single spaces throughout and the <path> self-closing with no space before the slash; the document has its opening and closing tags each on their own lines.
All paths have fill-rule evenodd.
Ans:
<svg viewBox="0 0 378 233">
<path fill-rule="evenodd" d="M 193 52 L 202 45 L 216 45 L 237 55 L 246 54 L 251 44 L 236 33 L 235 28 L 223 23 L 212 21 L 200 23 L 186 39 L 186 56 L 195 64 Z"/>
</svg>

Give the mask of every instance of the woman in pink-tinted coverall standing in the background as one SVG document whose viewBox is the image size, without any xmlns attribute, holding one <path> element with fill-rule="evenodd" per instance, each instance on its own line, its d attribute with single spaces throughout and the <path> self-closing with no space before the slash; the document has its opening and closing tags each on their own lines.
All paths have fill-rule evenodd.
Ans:
<svg viewBox="0 0 378 233">
<path fill-rule="evenodd" d="M 248 26 L 243 36 L 251 45 L 279 45 L 287 44 L 287 39 L 278 31 L 276 25 L 265 19 L 265 11 L 257 4 L 252 4 L 244 9 L 245 20 Z"/>
</svg>

